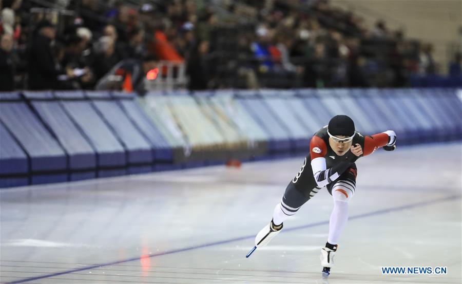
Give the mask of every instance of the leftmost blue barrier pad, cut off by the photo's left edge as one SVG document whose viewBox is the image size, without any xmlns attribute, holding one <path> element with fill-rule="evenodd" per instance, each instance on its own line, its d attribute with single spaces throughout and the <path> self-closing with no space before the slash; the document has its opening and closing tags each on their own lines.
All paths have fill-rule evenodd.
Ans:
<svg viewBox="0 0 462 284">
<path fill-rule="evenodd" d="M 0 123 L 0 188 L 28 185 L 27 155 Z"/>
</svg>

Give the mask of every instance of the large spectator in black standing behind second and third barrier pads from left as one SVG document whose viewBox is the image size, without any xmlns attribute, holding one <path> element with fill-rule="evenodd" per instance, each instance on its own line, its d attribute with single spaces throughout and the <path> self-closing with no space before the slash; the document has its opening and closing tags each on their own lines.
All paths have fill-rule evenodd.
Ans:
<svg viewBox="0 0 462 284">
<path fill-rule="evenodd" d="M 32 90 L 54 89 L 57 72 L 51 42 L 56 36 L 56 29 L 48 21 L 37 25 L 29 54 L 29 88 Z"/>
</svg>

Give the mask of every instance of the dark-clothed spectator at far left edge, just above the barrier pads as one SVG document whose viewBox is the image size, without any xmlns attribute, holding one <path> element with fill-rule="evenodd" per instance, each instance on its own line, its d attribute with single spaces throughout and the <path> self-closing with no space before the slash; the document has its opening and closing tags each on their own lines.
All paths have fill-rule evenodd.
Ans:
<svg viewBox="0 0 462 284">
<path fill-rule="evenodd" d="M 4 33 L 0 37 L 0 91 L 14 89 L 14 63 L 11 56 L 13 35 Z"/>
</svg>

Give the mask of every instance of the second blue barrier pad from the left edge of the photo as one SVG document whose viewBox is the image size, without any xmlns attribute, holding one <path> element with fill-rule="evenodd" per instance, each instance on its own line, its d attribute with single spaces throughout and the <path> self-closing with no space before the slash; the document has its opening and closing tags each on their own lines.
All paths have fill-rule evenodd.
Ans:
<svg viewBox="0 0 462 284">
<path fill-rule="evenodd" d="M 12 95 L 0 99 L 6 97 L 14 99 Z M 15 98 L 20 96 L 17 94 Z M 43 179 L 48 182 L 68 180 L 66 154 L 25 102 L 1 102 L 0 120 L 30 157 L 32 184 L 42 183 Z"/>
</svg>

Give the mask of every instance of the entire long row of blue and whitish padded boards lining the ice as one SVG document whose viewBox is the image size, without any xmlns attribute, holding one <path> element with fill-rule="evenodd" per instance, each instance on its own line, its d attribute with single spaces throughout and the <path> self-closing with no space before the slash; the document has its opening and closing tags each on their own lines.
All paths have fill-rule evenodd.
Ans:
<svg viewBox="0 0 462 284">
<path fill-rule="evenodd" d="M 0 93 L 0 187 L 305 153 L 335 115 L 398 145 L 462 138 L 460 89 Z"/>
</svg>

